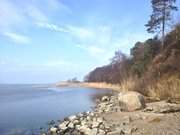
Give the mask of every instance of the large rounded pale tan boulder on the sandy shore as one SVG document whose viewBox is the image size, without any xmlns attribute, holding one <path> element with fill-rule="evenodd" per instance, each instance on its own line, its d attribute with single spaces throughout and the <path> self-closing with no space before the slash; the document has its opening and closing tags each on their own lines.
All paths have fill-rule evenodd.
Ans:
<svg viewBox="0 0 180 135">
<path fill-rule="evenodd" d="M 138 92 L 121 92 L 118 95 L 118 100 L 124 111 L 135 111 L 145 108 L 144 96 Z"/>
</svg>

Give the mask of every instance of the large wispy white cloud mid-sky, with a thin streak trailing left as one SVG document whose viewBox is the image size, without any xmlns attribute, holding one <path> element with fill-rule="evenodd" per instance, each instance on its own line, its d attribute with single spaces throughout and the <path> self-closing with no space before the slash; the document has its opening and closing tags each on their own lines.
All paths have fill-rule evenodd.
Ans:
<svg viewBox="0 0 180 135">
<path fill-rule="evenodd" d="M 130 54 L 130 48 L 137 41 L 144 41 L 149 34 L 144 32 L 117 32 L 115 28 L 108 25 L 97 27 L 79 27 L 73 25 L 58 26 L 53 23 L 39 22 L 38 27 L 56 32 L 64 32 L 68 37 L 72 37 L 75 46 L 87 51 L 92 57 L 107 61 L 113 56 L 116 50 Z M 103 58 L 102 58 L 103 57 Z"/>
</svg>

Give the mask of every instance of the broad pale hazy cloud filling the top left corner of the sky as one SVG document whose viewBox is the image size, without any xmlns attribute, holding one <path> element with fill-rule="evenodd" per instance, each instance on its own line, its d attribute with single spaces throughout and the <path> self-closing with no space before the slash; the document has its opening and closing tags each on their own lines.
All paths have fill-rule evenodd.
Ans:
<svg viewBox="0 0 180 135">
<path fill-rule="evenodd" d="M 69 13 L 71 9 L 59 0 L 0 0 L 0 32 L 24 29 L 36 22 L 50 22 L 57 12 Z"/>
</svg>

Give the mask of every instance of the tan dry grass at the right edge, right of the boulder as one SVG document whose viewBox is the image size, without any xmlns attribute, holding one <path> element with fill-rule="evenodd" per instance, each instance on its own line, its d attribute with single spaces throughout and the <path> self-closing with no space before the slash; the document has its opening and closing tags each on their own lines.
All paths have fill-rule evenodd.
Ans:
<svg viewBox="0 0 180 135">
<path fill-rule="evenodd" d="M 180 98 L 180 78 L 178 75 L 162 77 L 147 88 L 148 95 L 161 99 Z"/>
</svg>

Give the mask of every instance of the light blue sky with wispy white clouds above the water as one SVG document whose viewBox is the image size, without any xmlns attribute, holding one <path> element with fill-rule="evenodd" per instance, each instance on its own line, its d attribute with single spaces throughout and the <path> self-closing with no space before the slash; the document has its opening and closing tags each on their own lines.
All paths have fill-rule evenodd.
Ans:
<svg viewBox="0 0 180 135">
<path fill-rule="evenodd" d="M 150 0 L 0 0 L 0 83 L 82 80 L 152 37 L 150 14 Z"/>
</svg>

